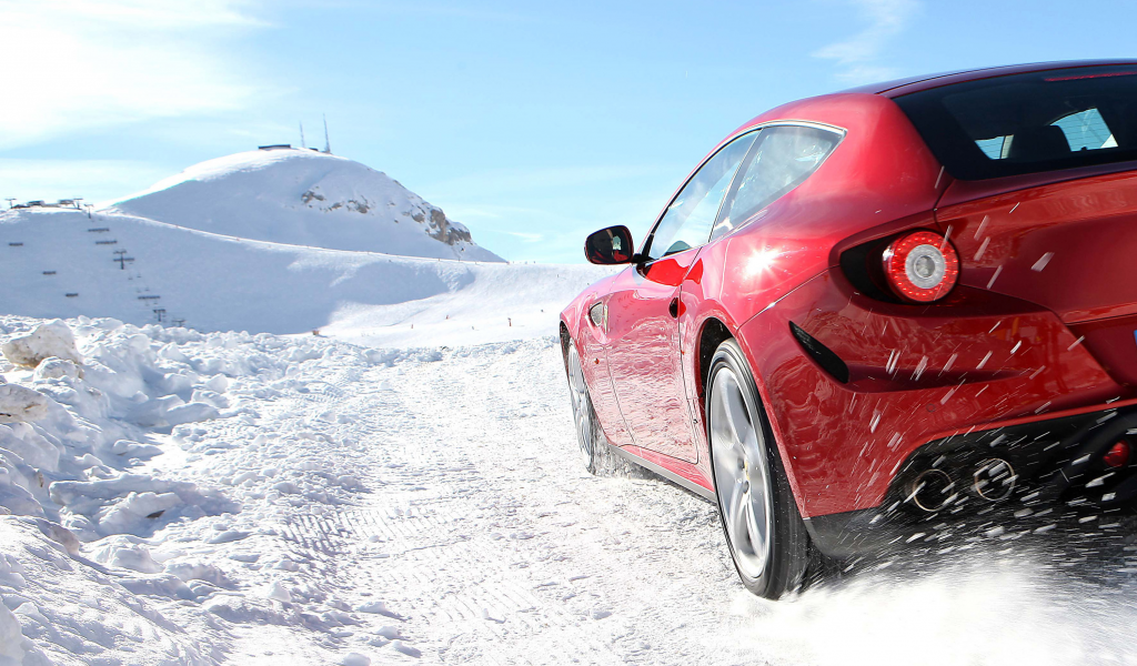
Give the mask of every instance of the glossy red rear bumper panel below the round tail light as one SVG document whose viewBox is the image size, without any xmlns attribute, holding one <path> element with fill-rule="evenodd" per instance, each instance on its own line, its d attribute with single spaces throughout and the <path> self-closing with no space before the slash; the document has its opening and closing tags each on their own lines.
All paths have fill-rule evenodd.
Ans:
<svg viewBox="0 0 1137 666">
<path fill-rule="evenodd" d="M 966 288 L 953 299 L 913 316 L 835 269 L 742 327 L 739 340 L 762 341 L 752 363 L 803 516 L 878 506 L 899 464 L 943 432 L 1122 392 L 1052 313 Z M 789 322 L 846 359 L 848 384 L 802 353 Z"/>
</svg>

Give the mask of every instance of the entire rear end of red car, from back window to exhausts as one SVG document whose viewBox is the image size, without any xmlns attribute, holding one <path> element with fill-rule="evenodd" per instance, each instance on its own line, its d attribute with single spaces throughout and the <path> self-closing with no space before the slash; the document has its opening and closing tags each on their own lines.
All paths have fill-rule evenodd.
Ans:
<svg viewBox="0 0 1137 666">
<path fill-rule="evenodd" d="M 945 81 L 885 94 L 952 180 L 913 228 L 947 240 L 954 288 L 927 302 L 899 288 L 902 230 L 840 248 L 840 268 L 762 324 L 789 324 L 811 372 L 844 389 L 783 408 L 845 411 L 804 419 L 820 436 L 840 422 L 844 452 L 796 451 L 799 476 L 824 482 L 803 494 L 825 550 L 855 549 L 886 514 L 1062 506 L 1112 524 L 1137 500 L 1137 64 Z"/>
</svg>

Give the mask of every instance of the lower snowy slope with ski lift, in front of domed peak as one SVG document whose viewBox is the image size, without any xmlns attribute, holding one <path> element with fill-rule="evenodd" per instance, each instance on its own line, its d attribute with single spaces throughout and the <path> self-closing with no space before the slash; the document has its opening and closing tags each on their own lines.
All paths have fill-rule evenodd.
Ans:
<svg viewBox="0 0 1137 666">
<path fill-rule="evenodd" d="M 119 256 L 133 261 L 124 268 Z M 331 325 L 384 343 L 463 344 L 484 341 L 487 328 L 496 340 L 554 333 L 564 303 L 607 272 L 323 250 L 117 214 L 0 214 L 0 281 L 9 285 L 0 313 L 34 317 L 109 316 L 141 325 L 156 322 L 160 308 L 167 323 L 184 319 L 206 331 L 307 333 Z M 417 313 L 424 324 L 445 325 L 412 331 Z"/>
</svg>

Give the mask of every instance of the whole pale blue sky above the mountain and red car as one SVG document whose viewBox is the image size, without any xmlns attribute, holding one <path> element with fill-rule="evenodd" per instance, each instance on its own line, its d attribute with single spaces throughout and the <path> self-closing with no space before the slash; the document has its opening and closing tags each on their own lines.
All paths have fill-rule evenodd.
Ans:
<svg viewBox="0 0 1137 666">
<path fill-rule="evenodd" d="M 0 198 L 109 200 L 263 143 L 385 172 L 515 261 L 637 236 L 723 135 L 860 83 L 1135 57 L 1131 2 L 0 0 Z"/>
</svg>

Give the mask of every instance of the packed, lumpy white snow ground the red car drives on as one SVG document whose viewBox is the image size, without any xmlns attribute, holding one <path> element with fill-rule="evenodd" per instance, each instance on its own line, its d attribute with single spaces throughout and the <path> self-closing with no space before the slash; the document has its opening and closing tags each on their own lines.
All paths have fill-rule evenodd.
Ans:
<svg viewBox="0 0 1137 666">
<path fill-rule="evenodd" d="M 993 534 L 750 596 L 712 505 L 583 472 L 551 335 L 66 325 L 80 361 L 0 363 L 44 406 L 0 425 L 0 664 L 1137 661 L 1130 551 Z"/>
</svg>

